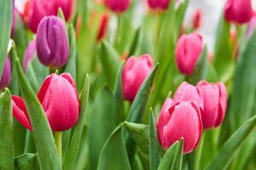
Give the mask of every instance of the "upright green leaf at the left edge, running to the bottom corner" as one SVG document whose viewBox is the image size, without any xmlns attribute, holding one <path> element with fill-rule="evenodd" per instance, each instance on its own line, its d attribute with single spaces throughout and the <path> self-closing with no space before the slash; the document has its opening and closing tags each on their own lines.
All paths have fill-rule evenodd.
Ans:
<svg viewBox="0 0 256 170">
<path fill-rule="evenodd" d="M 0 95 L 0 169 L 15 169 L 14 130 L 11 94 L 5 88 Z"/>
</svg>

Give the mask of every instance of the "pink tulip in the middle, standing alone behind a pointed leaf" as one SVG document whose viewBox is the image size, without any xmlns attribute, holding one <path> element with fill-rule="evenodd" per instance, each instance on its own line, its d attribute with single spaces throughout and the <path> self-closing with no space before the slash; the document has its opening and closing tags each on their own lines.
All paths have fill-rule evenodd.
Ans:
<svg viewBox="0 0 256 170">
<path fill-rule="evenodd" d="M 153 59 L 148 54 L 136 58 L 131 56 L 125 63 L 122 72 L 124 99 L 133 101 L 138 89 L 153 69 Z"/>
</svg>

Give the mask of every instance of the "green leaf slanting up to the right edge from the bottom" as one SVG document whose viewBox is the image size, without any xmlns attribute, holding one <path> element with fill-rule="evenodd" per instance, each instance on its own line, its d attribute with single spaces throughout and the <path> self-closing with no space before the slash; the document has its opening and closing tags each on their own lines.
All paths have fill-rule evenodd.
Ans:
<svg viewBox="0 0 256 170">
<path fill-rule="evenodd" d="M 256 126 L 256 116 L 253 116 L 247 122 L 243 123 L 235 133 L 228 139 L 224 145 L 218 150 L 212 161 L 208 164 L 207 170 L 225 169 L 230 165 L 230 161 L 236 156 L 237 150 L 241 144 L 247 139 L 247 136 L 253 132 Z"/>
</svg>

